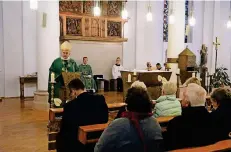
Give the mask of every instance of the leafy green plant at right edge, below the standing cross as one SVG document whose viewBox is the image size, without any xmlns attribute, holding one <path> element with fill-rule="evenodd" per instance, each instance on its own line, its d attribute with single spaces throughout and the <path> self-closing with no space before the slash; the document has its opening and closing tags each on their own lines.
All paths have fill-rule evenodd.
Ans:
<svg viewBox="0 0 231 152">
<path fill-rule="evenodd" d="M 212 76 L 212 85 L 214 88 L 231 85 L 229 75 L 227 74 L 226 70 L 228 69 L 224 67 L 219 67 L 216 69 L 215 73 Z"/>
</svg>

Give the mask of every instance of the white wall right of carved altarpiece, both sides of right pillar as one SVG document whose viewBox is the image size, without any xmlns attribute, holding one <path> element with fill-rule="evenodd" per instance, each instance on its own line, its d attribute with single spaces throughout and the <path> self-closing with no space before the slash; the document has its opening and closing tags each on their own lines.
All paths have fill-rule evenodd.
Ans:
<svg viewBox="0 0 231 152">
<path fill-rule="evenodd" d="M 147 4 L 148 1 L 128 1 L 127 3 L 127 10 L 131 19 L 128 23 L 129 27 L 125 31 L 129 40 L 124 43 L 123 60 L 125 67 L 129 67 L 129 69 L 145 68 L 147 61 L 151 61 L 152 64 L 165 62 L 168 43 L 164 43 L 162 40 L 164 2 L 151 2 L 152 22 L 146 21 Z M 185 44 L 185 47 L 188 46 L 194 52 L 199 64 L 200 49 L 202 44 L 205 44 L 208 47 L 207 66 L 210 72 L 214 72 L 215 50 L 213 41 L 218 36 L 221 43 L 218 51 L 218 67 L 221 65 L 227 67 L 228 73 L 231 74 L 231 44 L 229 42 L 231 30 L 225 26 L 229 17 L 229 6 L 229 1 L 194 1 L 196 25 L 192 28 L 192 43 Z M 135 52 L 135 56 L 132 55 L 133 52 Z"/>
</svg>

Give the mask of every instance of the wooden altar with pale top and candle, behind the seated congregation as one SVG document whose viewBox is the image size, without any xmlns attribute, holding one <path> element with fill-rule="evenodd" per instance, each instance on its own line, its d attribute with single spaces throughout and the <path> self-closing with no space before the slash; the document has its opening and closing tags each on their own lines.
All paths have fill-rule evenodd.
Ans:
<svg viewBox="0 0 231 152">
<path fill-rule="evenodd" d="M 128 81 L 128 77 L 131 76 L 131 81 Z M 158 81 L 158 75 L 165 77 L 168 81 L 172 75 L 171 71 L 147 71 L 147 70 L 137 70 L 137 71 L 129 71 L 123 70 L 121 71 L 121 76 L 123 80 L 123 97 L 125 100 L 125 96 L 127 90 L 131 87 L 131 84 L 134 81 L 142 81 L 147 86 L 148 92 L 152 98 L 152 100 L 156 100 L 161 96 L 162 93 L 162 82 Z"/>
</svg>

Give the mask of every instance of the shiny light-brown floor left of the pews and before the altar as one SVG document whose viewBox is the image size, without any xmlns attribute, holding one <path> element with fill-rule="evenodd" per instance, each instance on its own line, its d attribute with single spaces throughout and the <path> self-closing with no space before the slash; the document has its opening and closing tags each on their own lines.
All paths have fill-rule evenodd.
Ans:
<svg viewBox="0 0 231 152">
<path fill-rule="evenodd" d="M 107 92 L 107 103 L 122 102 L 122 93 Z M 48 112 L 33 110 L 32 100 L 21 108 L 19 98 L 0 102 L 0 152 L 47 152 Z"/>
</svg>

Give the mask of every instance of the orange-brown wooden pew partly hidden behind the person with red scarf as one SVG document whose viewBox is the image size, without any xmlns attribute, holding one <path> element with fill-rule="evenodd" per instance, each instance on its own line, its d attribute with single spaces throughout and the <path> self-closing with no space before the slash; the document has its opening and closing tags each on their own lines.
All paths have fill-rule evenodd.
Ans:
<svg viewBox="0 0 231 152">
<path fill-rule="evenodd" d="M 174 117 L 159 117 L 156 118 L 159 124 L 167 123 L 172 120 Z M 96 124 L 96 125 L 88 125 L 88 126 L 80 126 L 78 139 L 82 144 L 96 143 L 104 131 L 107 128 L 109 123 L 106 124 Z"/>
</svg>

